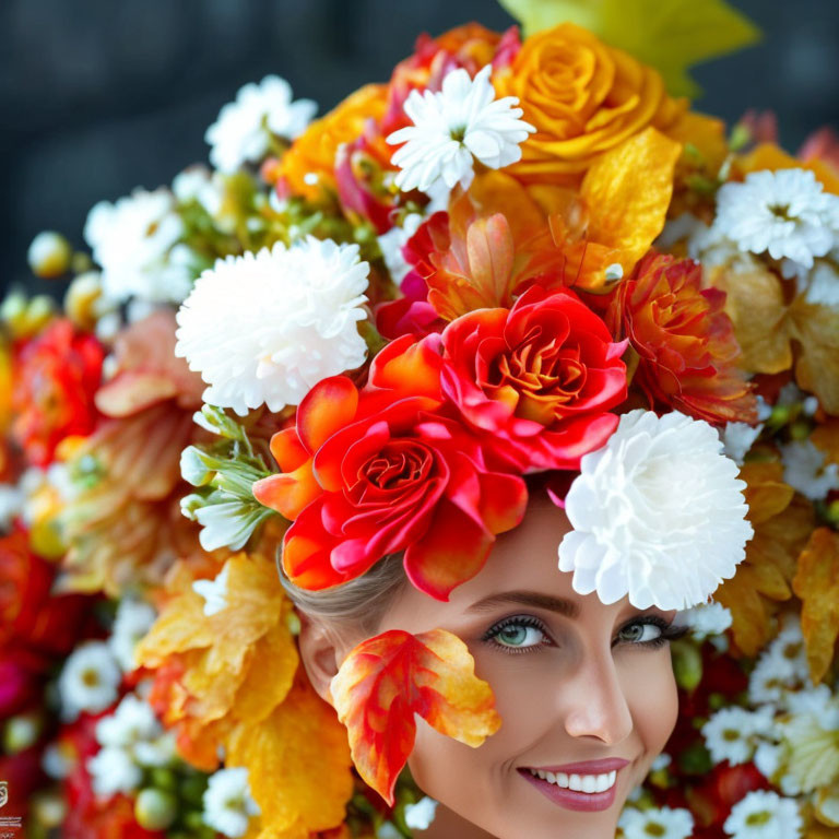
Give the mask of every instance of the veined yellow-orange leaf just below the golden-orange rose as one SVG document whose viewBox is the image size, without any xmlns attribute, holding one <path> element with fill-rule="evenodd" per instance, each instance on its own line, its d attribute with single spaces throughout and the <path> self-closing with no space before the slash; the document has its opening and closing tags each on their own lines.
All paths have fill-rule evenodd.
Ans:
<svg viewBox="0 0 839 839">
<path fill-rule="evenodd" d="M 627 274 L 664 227 L 682 145 L 654 128 L 595 161 L 580 194 L 589 206 L 589 239 L 621 251 Z"/>
</svg>

